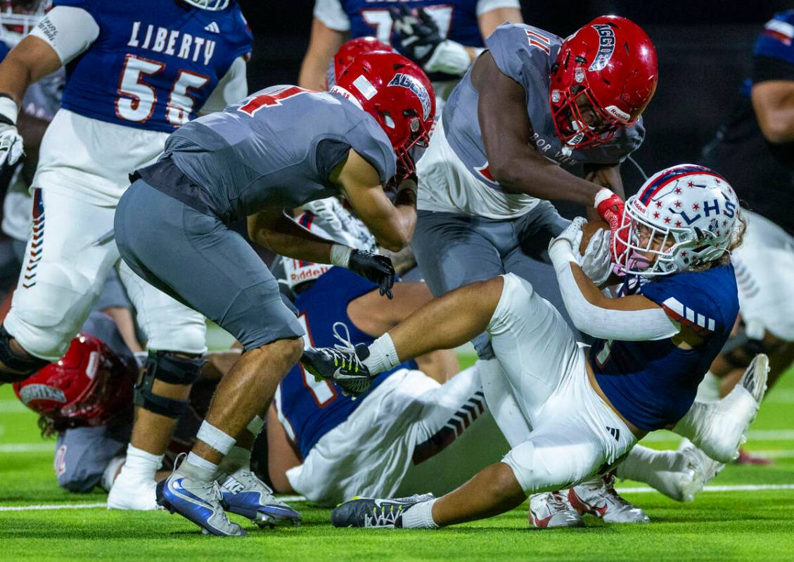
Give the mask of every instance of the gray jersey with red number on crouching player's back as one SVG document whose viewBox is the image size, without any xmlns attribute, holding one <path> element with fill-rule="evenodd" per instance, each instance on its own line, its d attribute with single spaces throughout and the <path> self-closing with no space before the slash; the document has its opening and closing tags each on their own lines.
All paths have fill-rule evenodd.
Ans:
<svg viewBox="0 0 794 562">
<path fill-rule="evenodd" d="M 198 189 L 179 194 L 152 185 L 228 224 L 265 208 L 297 207 L 338 194 L 329 176 L 350 148 L 375 167 L 381 183 L 395 175 L 386 133 L 353 102 L 339 94 L 274 86 L 168 137 L 163 157 L 170 156 Z"/>
</svg>

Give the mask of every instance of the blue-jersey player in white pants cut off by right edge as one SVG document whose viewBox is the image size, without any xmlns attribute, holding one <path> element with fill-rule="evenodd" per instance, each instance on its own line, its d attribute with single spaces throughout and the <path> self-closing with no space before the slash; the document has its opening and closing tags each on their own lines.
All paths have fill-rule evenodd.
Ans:
<svg viewBox="0 0 794 562">
<path fill-rule="evenodd" d="M 703 386 L 716 398 L 734 387 L 757 352 L 769 354 L 769 385 L 794 361 L 794 10 L 766 22 L 750 79 L 703 164 L 718 169 L 746 206 L 744 244 L 734 253 L 742 329 Z M 753 162 L 753 166 L 747 166 Z M 721 388 L 719 387 L 721 385 Z M 705 388 L 704 388 L 705 390 Z M 769 463 L 744 453 L 740 460 Z"/>
</svg>

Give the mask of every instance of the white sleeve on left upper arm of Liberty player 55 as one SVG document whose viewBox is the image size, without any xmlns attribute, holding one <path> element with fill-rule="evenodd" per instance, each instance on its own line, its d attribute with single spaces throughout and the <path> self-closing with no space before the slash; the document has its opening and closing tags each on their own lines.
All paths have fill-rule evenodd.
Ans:
<svg viewBox="0 0 794 562">
<path fill-rule="evenodd" d="M 46 41 L 58 53 L 61 64 L 68 64 L 99 37 L 99 25 L 83 8 L 56 6 L 30 34 Z"/>
</svg>

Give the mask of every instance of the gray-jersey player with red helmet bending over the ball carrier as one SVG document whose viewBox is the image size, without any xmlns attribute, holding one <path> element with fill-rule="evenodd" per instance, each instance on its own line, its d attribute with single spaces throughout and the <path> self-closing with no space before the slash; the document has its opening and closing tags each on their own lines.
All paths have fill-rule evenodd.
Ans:
<svg viewBox="0 0 794 562">
<path fill-rule="evenodd" d="M 418 160 L 411 246 L 436 296 L 512 272 L 568 320 L 545 252 L 568 221 L 548 200 L 591 206 L 592 218 L 617 228 L 619 167 L 645 135 L 640 114 L 656 88 L 656 52 L 642 29 L 614 16 L 565 40 L 505 24 L 486 47 Z M 486 334 L 473 343 L 480 359 L 493 358 Z"/>
</svg>

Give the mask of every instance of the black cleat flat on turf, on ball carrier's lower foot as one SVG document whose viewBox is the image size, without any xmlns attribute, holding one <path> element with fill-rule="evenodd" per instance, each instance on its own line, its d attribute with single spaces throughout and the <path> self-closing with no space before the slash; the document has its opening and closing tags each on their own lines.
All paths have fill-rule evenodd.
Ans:
<svg viewBox="0 0 794 562">
<path fill-rule="evenodd" d="M 333 508 L 331 523 L 334 527 L 402 529 L 403 513 L 411 506 L 433 498 L 432 494 L 387 499 L 356 497 Z"/>
</svg>

